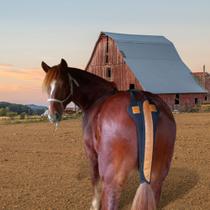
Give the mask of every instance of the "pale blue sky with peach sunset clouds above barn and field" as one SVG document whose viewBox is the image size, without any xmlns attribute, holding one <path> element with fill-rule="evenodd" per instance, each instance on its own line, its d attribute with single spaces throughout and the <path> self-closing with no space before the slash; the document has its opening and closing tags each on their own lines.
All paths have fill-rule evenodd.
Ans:
<svg viewBox="0 0 210 210">
<path fill-rule="evenodd" d="M 47 104 L 45 61 L 84 69 L 101 31 L 163 35 L 210 72 L 209 0 L 0 0 L 0 101 Z"/>
</svg>

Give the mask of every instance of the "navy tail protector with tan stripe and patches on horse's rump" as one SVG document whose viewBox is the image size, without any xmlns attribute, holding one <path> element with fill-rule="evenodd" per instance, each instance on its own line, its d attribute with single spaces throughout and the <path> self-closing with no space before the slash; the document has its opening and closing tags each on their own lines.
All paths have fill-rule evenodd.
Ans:
<svg viewBox="0 0 210 210">
<path fill-rule="evenodd" d="M 154 104 L 150 104 L 143 93 L 135 91 L 131 91 L 130 93 L 131 104 L 128 112 L 136 124 L 140 182 L 150 183 L 155 132 L 159 112 Z M 140 94 L 138 100 L 135 97 L 136 93 Z"/>
</svg>

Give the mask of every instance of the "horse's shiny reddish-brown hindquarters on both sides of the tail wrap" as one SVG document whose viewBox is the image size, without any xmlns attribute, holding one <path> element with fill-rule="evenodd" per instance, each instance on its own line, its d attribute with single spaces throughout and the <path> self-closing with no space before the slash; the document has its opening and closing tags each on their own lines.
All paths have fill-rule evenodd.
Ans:
<svg viewBox="0 0 210 210">
<path fill-rule="evenodd" d="M 156 139 L 153 149 L 151 189 L 156 203 L 159 202 L 161 186 L 172 159 L 176 126 L 172 114 L 162 100 L 152 98 L 159 110 Z M 98 109 L 92 123 L 93 147 L 98 156 L 99 174 L 103 180 L 102 206 L 115 196 L 118 205 L 122 185 L 129 173 L 138 166 L 138 142 L 136 125 L 128 114 L 130 97 L 119 93 L 108 98 Z M 113 195 L 111 195 L 113 194 Z"/>
</svg>

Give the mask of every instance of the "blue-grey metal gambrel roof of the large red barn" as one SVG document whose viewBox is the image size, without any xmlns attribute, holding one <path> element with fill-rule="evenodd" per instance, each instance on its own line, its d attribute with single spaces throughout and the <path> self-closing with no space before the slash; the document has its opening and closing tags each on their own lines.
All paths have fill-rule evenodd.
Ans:
<svg viewBox="0 0 210 210">
<path fill-rule="evenodd" d="M 153 93 L 205 93 L 164 36 L 102 32 L 112 38 L 144 90 Z"/>
</svg>

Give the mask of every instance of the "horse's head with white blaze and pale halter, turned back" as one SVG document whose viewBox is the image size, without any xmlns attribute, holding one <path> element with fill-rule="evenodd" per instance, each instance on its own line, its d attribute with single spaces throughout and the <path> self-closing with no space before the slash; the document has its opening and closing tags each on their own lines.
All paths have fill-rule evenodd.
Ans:
<svg viewBox="0 0 210 210">
<path fill-rule="evenodd" d="M 43 87 L 48 94 L 48 118 L 51 122 L 58 123 L 65 107 L 71 102 L 73 83 L 77 82 L 71 77 L 64 59 L 53 67 L 42 62 L 42 68 L 46 72 Z"/>
</svg>

